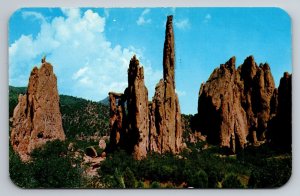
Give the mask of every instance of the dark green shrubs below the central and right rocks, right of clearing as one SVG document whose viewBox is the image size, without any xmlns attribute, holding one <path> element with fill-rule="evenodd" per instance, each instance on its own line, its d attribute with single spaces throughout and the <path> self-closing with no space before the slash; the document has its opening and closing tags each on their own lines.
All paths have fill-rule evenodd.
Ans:
<svg viewBox="0 0 300 196">
<path fill-rule="evenodd" d="M 152 153 L 140 161 L 117 151 L 102 163 L 99 181 L 107 188 L 270 188 L 290 177 L 291 154 L 268 145 L 251 146 L 237 155 L 203 146 L 196 143 L 179 155 Z"/>
</svg>

